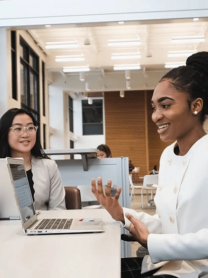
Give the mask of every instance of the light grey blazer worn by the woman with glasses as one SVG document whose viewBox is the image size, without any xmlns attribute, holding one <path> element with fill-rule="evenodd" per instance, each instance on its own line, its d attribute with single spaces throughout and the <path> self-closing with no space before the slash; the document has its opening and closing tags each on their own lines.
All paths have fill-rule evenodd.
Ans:
<svg viewBox="0 0 208 278">
<path fill-rule="evenodd" d="M 66 209 L 65 190 L 55 161 L 32 156 L 31 162 L 35 209 Z"/>
</svg>

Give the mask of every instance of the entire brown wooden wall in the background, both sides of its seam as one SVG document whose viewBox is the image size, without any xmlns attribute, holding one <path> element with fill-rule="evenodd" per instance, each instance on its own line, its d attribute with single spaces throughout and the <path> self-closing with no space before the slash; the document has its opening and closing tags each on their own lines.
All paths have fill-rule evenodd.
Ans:
<svg viewBox="0 0 208 278">
<path fill-rule="evenodd" d="M 162 150 L 171 143 L 160 140 L 152 121 L 152 94 L 153 91 L 125 91 L 121 98 L 119 91 L 104 93 L 105 142 L 113 157 L 127 156 L 135 167 L 140 167 L 141 176 L 155 164 L 159 166 Z"/>
</svg>

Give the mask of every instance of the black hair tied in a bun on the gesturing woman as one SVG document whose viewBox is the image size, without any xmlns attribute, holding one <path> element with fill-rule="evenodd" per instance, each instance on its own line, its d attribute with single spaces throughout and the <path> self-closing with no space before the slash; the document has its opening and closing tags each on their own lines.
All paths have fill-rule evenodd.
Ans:
<svg viewBox="0 0 208 278">
<path fill-rule="evenodd" d="M 203 99 L 201 123 L 208 115 L 208 52 L 195 53 L 187 58 L 186 66 L 181 66 L 168 71 L 159 82 L 167 79 L 177 91 L 187 93 L 188 105 L 196 98 Z"/>
</svg>

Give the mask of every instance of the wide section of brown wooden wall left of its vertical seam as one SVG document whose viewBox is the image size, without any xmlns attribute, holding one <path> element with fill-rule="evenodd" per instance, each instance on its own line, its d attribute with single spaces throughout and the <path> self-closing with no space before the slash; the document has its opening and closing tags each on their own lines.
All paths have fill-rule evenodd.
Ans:
<svg viewBox="0 0 208 278">
<path fill-rule="evenodd" d="M 113 157 L 128 156 L 141 173 L 147 172 L 144 91 L 104 93 L 105 141 Z"/>
</svg>

